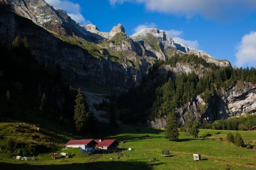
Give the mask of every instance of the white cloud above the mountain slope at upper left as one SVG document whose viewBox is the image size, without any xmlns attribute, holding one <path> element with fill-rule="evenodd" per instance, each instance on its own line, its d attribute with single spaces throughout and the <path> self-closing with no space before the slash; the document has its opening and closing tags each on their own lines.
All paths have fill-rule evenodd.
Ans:
<svg viewBox="0 0 256 170">
<path fill-rule="evenodd" d="M 45 0 L 45 2 L 54 7 L 62 8 L 73 20 L 81 23 L 82 25 L 91 23 L 90 21 L 86 20 L 81 14 L 81 6 L 79 5 L 79 3 L 73 3 L 68 0 Z"/>
</svg>

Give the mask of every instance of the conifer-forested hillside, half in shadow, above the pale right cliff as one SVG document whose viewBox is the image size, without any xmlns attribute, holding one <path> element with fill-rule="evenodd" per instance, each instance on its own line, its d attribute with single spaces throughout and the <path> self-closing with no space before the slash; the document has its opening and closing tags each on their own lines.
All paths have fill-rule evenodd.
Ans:
<svg viewBox="0 0 256 170">
<path fill-rule="evenodd" d="M 202 77 L 194 71 L 182 72 L 176 77 L 172 77 L 171 72 L 167 77 L 159 74 L 158 68 L 161 65 L 175 67 L 177 63 L 189 63 L 194 68 L 209 68 L 209 71 Z M 179 119 L 181 115 L 177 113 L 177 108 L 191 102 L 196 96 L 200 96 L 206 103 L 201 103 L 203 107 L 201 112 L 203 112 L 212 98 L 240 82 L 250 82 L 255 85 L 256 69 L 220 68 L 196 55 L 175 55 L 165 62 L 160 61 L 155 64 L 148 76 L 143 78 L 140 86 L 131 88 L 118 97 L 117 110 L 126 108 L 119 112 L 119 119 L 127 123 L 137 123 L 143 120 L 145 122 L 147 119 L 163 118 L 170 113 L 176 113 Z M 204 122 L 202 119 L 197 121 Z"/>
</svg>

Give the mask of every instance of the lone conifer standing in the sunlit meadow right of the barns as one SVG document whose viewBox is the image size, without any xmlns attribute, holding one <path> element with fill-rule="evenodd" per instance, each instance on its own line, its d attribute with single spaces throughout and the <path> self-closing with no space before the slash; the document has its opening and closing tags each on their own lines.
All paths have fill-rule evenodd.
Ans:
<svg viewBox="0 0 256 170">
<path fill-rule="evenodd" d="M 167 116 L 167 123 L 165 126 L 165 138 L 169 140 L 179 139 L 178 122 L 174 112 Z"/>
</svg>

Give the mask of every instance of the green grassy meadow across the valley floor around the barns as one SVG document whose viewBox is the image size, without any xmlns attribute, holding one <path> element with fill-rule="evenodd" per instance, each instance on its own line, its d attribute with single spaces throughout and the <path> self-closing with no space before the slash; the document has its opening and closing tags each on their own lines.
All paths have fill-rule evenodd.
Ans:
<svg viewBox="0 0 256 170">
<path fill-rule="evenodd" d="M 169 141 L 163 138 L 163 131 L 134 126 L 121 125 L 120 134 L 112 136 L 120 142 L 123 154 L 116 159 L 113 153 L 82 155 L 77 148 L 56 150 L 68 151 L 72 158 L 53 160 L 52 153 L 39 154 L 38 161 L 20 161 L 0 155 L 2 169 L 224 169 L 226 164 L 232 169 L 256 169 L 256 150 L 239 148 L 226 141 L 226 134 L 235 131 L 204 130 L 199 136 L 192 138 L 180 133 L 178 141 Z M 256 133 L 240 131 L 245 141 L 256 142 Z M 220 139 L 222 137 L 222 140 Z M 70 138 L 70 137 L 68 137 Z M 127 151 L 131 147 L 132 151 Z M 162 149 L 169 149 L 171 156 L 161 156 Z M 193 160 L 193 153 L 201 154 L 201 161 Z M 155 157 L 156 162 L 150 162 Z M 109 158 L 114 158 L 113 160 Z M 254 165 L 246 165 L 254 164 Z"/>
</svg>

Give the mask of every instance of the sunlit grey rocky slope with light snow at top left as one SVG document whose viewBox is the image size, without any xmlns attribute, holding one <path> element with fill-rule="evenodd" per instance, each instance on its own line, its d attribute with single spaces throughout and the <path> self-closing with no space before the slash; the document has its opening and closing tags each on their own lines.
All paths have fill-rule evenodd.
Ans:
<svg viewBox="0 0 256 170">
<path fill-rule="evenodd" d="M 61 36 L 76 35 L 90 42 L 103 39 L 98 34 L 86 31 L 61 8 L 53 7 L 43 0 L 8 0 L 8 3 L 11 11 Z"/>
</svg>

